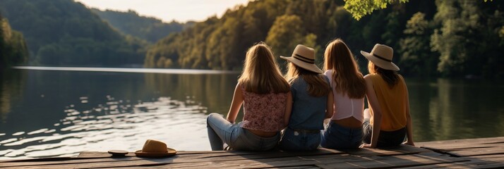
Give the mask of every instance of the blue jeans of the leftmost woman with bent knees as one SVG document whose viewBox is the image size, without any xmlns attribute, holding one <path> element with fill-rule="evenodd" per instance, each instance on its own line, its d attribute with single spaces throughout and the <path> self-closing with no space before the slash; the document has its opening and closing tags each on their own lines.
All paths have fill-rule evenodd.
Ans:
<svg viewBox="0 0 504 169">
<path fill-rule="evenodd" d="M 280 141 L 280 132 L 273 137 L 260 137 L 242 128 L 241 123 L 229 123 L 218 113 L 208 115 L 207 130 L 213 151 L 223 150 L 224 143 L 233 150 L 267 151 Z"/>
</svg>

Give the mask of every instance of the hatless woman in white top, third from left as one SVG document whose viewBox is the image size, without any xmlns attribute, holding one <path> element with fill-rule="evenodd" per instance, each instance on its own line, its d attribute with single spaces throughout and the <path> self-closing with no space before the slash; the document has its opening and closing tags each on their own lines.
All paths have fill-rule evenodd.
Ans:
<svg viewBox="0 0 504 169">
<path fill-rule="evenodd" d="M 334 93 L 334 111 L 322 133 L 320 146 L 329 149 L 354 149 L 362 142 L 366 83 L 354 56 L 342 39 L 325 49 L 325 75 Z"/>
</svg>

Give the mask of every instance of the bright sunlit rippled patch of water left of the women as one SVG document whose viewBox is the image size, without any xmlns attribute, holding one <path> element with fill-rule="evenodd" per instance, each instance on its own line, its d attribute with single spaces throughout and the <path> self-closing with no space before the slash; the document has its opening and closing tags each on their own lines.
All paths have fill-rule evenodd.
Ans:
<svg viewBox="0 0 504 169">
<path fill-rule="evenodd" d="M 81 151 L 142 149 L 146 139 L 158 139 L 179 150 L 208 150 L 205 113 L 207 108 L 190 100 L 160 97 L 154 101 L 116 101 L 90 110 L 76 110 L 73 104 L 64 110 L 66 117 L 55 128 L 15 132 L 0 140 L 0 159 L 77 156 Z M 88 97 L 80 97 L 82 104 Z M 87 102 L 86 102 L 87 103 Z M 2 135 L 5 135 L 2 133 Z M 37 144 L 30 144 L 36 142 Z"/>
</svg>

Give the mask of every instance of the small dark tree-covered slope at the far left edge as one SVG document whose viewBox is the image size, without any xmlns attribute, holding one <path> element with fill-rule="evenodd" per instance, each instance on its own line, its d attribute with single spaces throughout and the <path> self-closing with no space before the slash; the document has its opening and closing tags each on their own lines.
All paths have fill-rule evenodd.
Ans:
<svg viewBox="0 0 504 169">
<path fill-rule="evenodd" d="M 26 61 L 28 61 L 28 49 L 23 34 L 12 30 L 8 20 L 0 15 L 0 71 L 2 71 L 0 74 L 3 74 L 5 68 Z"/>
</svg>

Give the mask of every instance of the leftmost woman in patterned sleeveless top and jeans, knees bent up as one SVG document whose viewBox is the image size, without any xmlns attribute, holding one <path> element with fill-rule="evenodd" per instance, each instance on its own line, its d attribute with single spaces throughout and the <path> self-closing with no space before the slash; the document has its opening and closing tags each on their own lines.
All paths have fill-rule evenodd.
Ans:
<svg viewBox="0 0 504 169">
<path fill-rule="evenodd" d="M 234 124 L 244 105 L 244 118 Z M 266 151 L 280 141 L 280 130 L 289 123 L 292 95 L 269 46 L 260 42 L 248 49 L 244 70 L 234 89 L 227 119 L 218 113 L 207 118 L 212 150 Z"/>
</svg>

